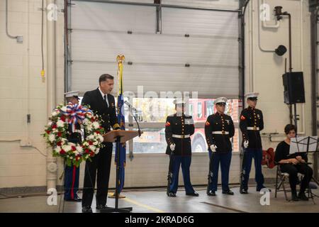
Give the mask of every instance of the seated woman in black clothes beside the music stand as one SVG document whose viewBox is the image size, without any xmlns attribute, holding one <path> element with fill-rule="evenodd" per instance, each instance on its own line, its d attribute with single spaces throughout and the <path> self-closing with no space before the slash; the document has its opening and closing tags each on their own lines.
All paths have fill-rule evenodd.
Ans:
<svg viewBox="0 0 319 227">
<path fill-rule="evenodd" d="M 289 184 L 291 187 L 291 200 L 308 200 L 305 194 L 306 188 L 313 176 L 313 170 L 306 164 L 308 157 L 306 153 L 295 153 L 289 155 L 291 138 L 296 137 L 296 126 L 286 125 L 286 139 L 277 145 L 275 153 L 275 162 L 280 165 L 281 172 L 289 173 Z M 298 182 L 298 172 L 304 175 L 301 181 L 300 192 L 297 196 L 296 184 Z"/>
</svg>

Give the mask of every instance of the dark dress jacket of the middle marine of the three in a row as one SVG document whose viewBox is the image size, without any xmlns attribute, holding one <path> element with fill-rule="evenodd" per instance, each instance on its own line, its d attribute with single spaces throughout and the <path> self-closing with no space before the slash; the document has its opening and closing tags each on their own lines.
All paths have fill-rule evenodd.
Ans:
<svg viewBox="0 0 319 227">
<path fill-rule="evenodd" d="M 205 135 L 209 151 L 211 151 L 211 145 L 217 146 L 217 153 L 228 153 L 233 150 L 230 138 L 234 134 L 235 127 L 230 116 L 218 113 L 208 116 L 205 123 Z"/>
</svg>

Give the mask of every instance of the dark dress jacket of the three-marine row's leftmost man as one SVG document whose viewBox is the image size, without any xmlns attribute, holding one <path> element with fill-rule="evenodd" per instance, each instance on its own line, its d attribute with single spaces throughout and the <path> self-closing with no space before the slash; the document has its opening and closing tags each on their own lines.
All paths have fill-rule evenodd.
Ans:
<svg viewBox="0 0 319 227">
<path fill-rule="evenodd" d="M 167 116 L 165 125 L 165 138 L 167 141 L 166 154 L 172 153 L 169 145 L 175 144 L 174 155 L 191 155 L 191 138 L 194 134 L 194 121 L 191 116 L 177 116 L 177 114 Z"/>
</svg>

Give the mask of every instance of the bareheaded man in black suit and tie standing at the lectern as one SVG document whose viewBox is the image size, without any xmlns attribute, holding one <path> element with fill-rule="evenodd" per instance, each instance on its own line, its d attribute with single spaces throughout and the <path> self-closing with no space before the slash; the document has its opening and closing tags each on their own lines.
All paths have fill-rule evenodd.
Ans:
<svg viewBox="0 0 319 227">
<path fill-rule="evenodd" d="M 116 105 L 111 92 L 114 87 L 114 77 L 109 74 L 102 74 L 99 78 L 99 87 L 93 91 L 86 92 L 82 99 L 82 105 L 89 106 L 89 109 L 102 117 L 102 127 L 106 131 L 120 129 L 116 117 Z M 96 209 L 107 209 L 106 199 L 108 194 L 108 180 L 110 178 L 112 143 L 104 143 L 99 153 L 87 161 L 84 174 L 84 189 L 82 196 L 82 212 L 91 213 L 91 204 L 94 195 L 95 182 L 97 182 Z M 96 179 L 97 170 L 97 179 Z"/>
</svg>

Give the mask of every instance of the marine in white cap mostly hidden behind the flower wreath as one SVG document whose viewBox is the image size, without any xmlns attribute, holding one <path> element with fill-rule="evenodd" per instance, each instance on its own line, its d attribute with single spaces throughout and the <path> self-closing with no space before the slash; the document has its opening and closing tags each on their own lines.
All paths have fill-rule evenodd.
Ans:
<svg viewBox="0 0 319 227">
<path fill-rule="evenodd" d="M 79 103 L 79 92 L 65 93 L 67 103 Z M 82 132 L 79 123 L 75 125 L 75 131 L 72 132 L 72 127 L 69 125 L 67 139 L 71 143 L 81 143 Z M 82 201 L 79 198 L 77 191 L 79 190 L 79 167 L 65 165 L 65 201 Z"/>
</svg>

